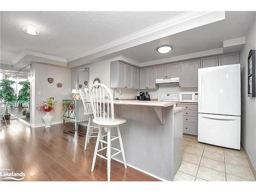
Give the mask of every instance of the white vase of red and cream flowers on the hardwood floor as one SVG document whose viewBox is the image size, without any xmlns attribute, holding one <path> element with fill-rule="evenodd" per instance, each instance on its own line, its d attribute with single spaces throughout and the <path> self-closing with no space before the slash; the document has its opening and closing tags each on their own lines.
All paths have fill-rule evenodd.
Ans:
<svg viewBox="0 0 256 192">
<path fill-rule="evenodd" d="M 43 99 L 42 102 L 36 107 L 36 110 L 39 113 L 44 114 L 44 116 L 42 116 L 42 119 L 46 123 L 45 128 L 51 127 L 50 123 L 52 121 L 53 115 L 51 115 L 50 112 L 54 112 L 55 106 L 56 101 L 53 97 L 49 97 L 48 99 Z"/>
</svg>

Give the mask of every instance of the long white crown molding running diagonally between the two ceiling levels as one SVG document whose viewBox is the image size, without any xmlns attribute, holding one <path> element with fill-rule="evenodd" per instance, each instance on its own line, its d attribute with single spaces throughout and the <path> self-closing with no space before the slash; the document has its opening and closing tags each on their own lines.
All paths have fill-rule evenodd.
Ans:
<svg viewBox="0 0 256 192">
<path fill-rule="evenodd" d="M 77 60 L 79 58 L 86 57 L 88 55 L 95 54 L 97 52 L 104 51 L 106 49 L 109 49 L 109 48 L 112 48 L 112 47 L 115 47 L 115 46 L 118 46 L 118 45 L 122 45 L 125 42 L 129 42 L 131 40 L 138 39 L 138 38 L 146 36 L 146 35 L 150 35 L 150 34 L 155 33 L 157 31 L 164 30 L 166 28 L 175 26 L 177 24 L 186 22 L 188 20 L 191 20 L 191 19 L 203 16 L 203 15 L 206 15 L 206 14 L 209 14 L 209 13 L 213 13 L 213 12 L 206 12 L 206 11 L 194 12 L 193 11 L 193 12 L 182 13 L 182 14 L 177 15 L 175 17 L 166 19 L 163 22 L 157 23 L 155 25 L 149 26 L 149 27 L 144 28 L 142 30 L 136 31 L 136 32 L 134 32 L 132 34 L 129 34 L 129 35 L 123 36 L 121 38 L 118 38 L 116 40 L 113 40 L 113 41 L 111 41 L 111 42 L 109 42 L 107 44 L 99 46 L 99 47 L 97 47 L 95 49 L 92 49 L 90 51 L 87 51 L 85 53 L 76 55 L 74 57 L 70 57 L 70 58 L 67 59 L 67 61 L 71 62 L 71 61 Z M 224 18 L 225 18 L 225 12 L 224 12 Z M 170 35 L 170 34 L 166 34 L 165 36 L 168 36 L 168 35 Z"/>
</svg>

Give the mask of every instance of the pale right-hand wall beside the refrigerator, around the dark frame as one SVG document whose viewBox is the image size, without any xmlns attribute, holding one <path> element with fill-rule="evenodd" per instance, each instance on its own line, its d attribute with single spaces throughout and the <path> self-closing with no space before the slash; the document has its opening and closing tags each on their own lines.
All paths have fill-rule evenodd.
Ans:
<svg viewBox="0 0 256 192">
<path fill-rule="evenodd" d="M 251 29 L 246 36 L 246 44 L 241 52 L 241 89 L 242 89 L 242 116 L 241 132 L 242 142 L 256 168 L 256 99 L 247 97 L 247 57 L 251 49 L 256 49 L 256 15 L 251 24 Z"/>
</svg>

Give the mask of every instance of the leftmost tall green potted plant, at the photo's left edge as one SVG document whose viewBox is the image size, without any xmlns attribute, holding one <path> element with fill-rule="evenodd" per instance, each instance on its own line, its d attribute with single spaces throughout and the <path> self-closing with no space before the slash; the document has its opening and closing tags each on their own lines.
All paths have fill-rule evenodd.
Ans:
<svg viewBox="0 0 256 192">
<path fill-rule="evenodd" d="M 15 103 L 16 94 L 15 90 L 12 88 L 12 84 L 15 81 L 9 80 L 7 78 L 0 81 L 0 99 L 6 103 L 5 109 L 5 119 L 10 120 L 11 114 L 8 112 L 8 105 Z M 3 118 L 4 119 L 4 118 Z"/>
</svg>

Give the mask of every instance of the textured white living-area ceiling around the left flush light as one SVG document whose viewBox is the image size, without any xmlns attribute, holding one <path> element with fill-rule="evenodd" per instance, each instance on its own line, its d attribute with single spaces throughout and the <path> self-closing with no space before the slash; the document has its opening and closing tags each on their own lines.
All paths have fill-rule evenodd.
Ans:
<svg viewBox="0 0 256 192">
<path fill-rule="evenodd" d="M 69 59 L 184 12 L 1 12 L 1 60 L 24 50 Z M 22 31 L 36 25 L 39 36 Z"/>
</svg>

